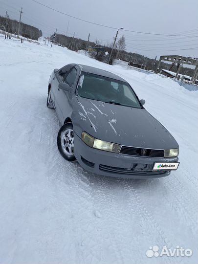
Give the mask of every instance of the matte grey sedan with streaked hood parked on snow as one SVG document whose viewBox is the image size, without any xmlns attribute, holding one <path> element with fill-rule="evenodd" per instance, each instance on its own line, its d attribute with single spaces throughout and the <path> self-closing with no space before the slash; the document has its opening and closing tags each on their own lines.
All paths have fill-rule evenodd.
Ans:
<svg viewBox="0 0 198 264">
<path fill-rule="evenodd" d="M 61 128 L 60 154 L 87 171 L 115 177 L 162 177 L 178 168 L 179 146 L 121 77 L 91 66 L 54 69 L 47 107 Z"/>
</svg>

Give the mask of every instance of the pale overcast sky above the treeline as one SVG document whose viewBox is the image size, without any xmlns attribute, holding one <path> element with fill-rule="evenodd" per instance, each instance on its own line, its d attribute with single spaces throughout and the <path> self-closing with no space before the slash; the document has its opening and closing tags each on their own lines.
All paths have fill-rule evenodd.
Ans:
<svg viewBox="0 0 198 264">
<path fill-rule="evenodd" d="M 198 0 L 38 0 L 56 10 L 99 24 L 126 30 L 173 35 L 198 35 Z M 110 43 L 116 29 L 82 22 L 52 11 L 32 0 L 0 0 L 0 15 L 34 25 L 50 36 L 57 33 Z M 68 26 L 68 31 L 67 31 Z M 127 50 L 150 58 L 157 55 L 198 57 L 198 37 L 155 36 L 119 31 Z M 197 47 L 197 48 L 196 48 Z M 195 49 L 196 48 L 196 49 Z M 184 50 L 182 50 L 184 49 Z"/>
</svg>

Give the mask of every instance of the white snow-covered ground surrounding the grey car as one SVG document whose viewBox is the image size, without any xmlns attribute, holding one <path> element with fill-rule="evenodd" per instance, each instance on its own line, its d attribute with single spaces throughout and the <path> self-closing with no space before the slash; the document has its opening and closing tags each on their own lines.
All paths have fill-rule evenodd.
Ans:
<svg viewBox="0 0 198 264">
<path fill-rule="evenodd" d="M 82 63 L 125 78 L 176 138 L 180 166 L 165 178 L 96 176 L 62 158 L 46 108 L 54 68 Z M 60 46 L 0 38 L 0 263 L 198 263 L 198 92 Z M 191 257 L 146 256 L 150 246 Z"/>
</svg>

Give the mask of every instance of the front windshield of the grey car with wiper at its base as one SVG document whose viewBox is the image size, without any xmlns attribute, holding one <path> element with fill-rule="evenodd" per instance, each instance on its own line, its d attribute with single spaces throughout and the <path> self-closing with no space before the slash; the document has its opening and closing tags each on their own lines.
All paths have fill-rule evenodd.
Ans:
<svg viewBox="0 0 198 264">
<path fill-rule="evenodd" d="M 82 72 L 77 95 L 110 104 L 141 108 L 128 83 L 96 74 Z"/>
</svg>

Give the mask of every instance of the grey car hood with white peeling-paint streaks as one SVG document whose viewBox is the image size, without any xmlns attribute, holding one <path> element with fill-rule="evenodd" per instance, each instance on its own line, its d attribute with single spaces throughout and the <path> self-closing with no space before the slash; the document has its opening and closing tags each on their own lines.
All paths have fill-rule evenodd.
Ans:
<svg viewBox="0 0 198 264">
<path fill-rule="evenodd" d="M 77 97 L 75 127 L 101 140 L 150 149 L 174 149 L 174 137 L 145 109 Z"/>
</svg>

